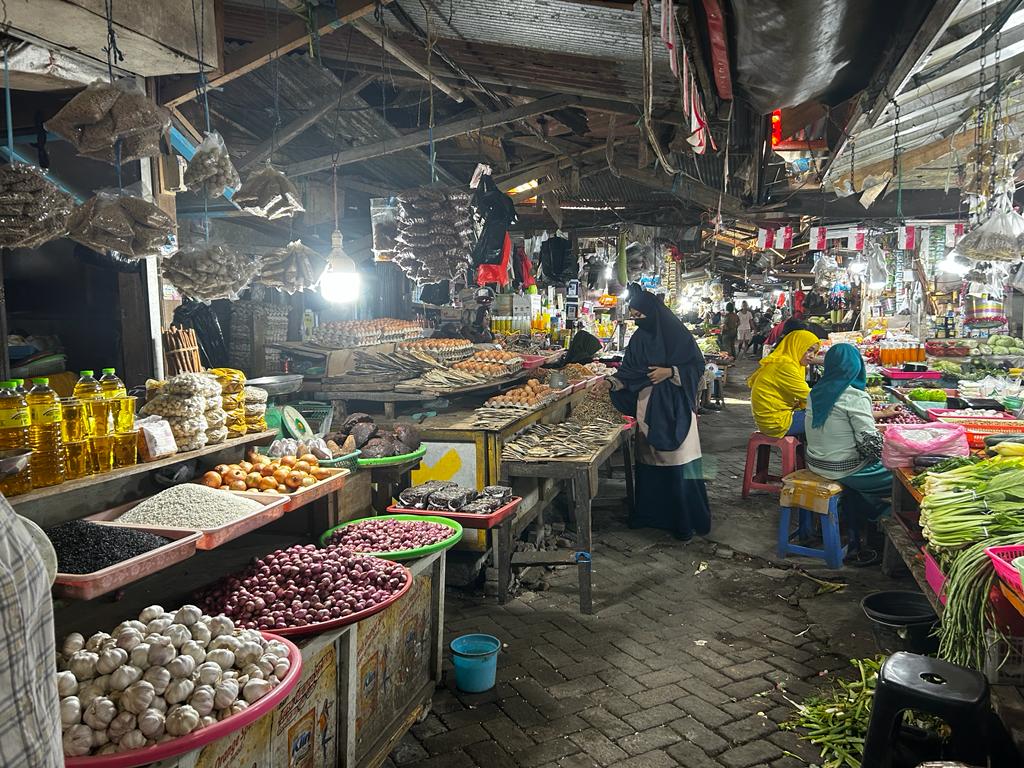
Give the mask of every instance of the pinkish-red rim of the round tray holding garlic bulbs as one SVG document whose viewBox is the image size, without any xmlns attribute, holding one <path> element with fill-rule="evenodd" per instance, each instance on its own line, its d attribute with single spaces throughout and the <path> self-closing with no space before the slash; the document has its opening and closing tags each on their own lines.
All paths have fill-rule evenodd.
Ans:
<svg viewBox="0 0 1024 768">
<path fill-rule="evenodd" d="M 302 674 L 302 653 L 296 647 L 295 643 L 282 637 L 280 633 L 263 632 L 261 634 L 267 640 L 278 640 L 288 646 L 288 656 L 292 666 L 289 668 L 288 674 L 285 675 L 285 679 L 278 684 L 278 687 L 252 707 L 247 707 L 238 715 L 231 715 L 229 718 L 224 718 L 211 726 L 194 731 L 188 735 L 179 736 L 178 738 L 154 744 L 153 746 L 143 746 L 141 750 L 131 750 L 130 752 L 121 752 L 115 755 L 92 755 L 81 758 L 66 757 L 65 768 L 136 768 L 136 766 L 148 765 L 150 763 L 167 760 L 168 758 L 198 750 L 201 746 L 206 746 L 208 743 L 216 741 L 218 738 L 223 738 L 229 733 L 234 733 L 250 723 L 256 722 L 264 715 L 269 714 L 298 684 L 299 677 Z"/>
</svg>

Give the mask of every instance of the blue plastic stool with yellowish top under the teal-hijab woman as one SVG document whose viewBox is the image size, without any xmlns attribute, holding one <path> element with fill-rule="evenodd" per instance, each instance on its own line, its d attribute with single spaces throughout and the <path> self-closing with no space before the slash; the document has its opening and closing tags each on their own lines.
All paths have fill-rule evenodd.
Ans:
<svg viewBox="0 0 1024 768">
<path fill-rule="evenodd" d="M 801 469 L 782 478 L 782 492 L 778 510 L 778 556 L 804 555 L 819 557 L 829 568 L 843 567 L 846 547 L 839 534 L 839 499 L 843 486 L 826 480 L 809 469 Z M 797 530 L 791 530 L 793 511 L 800 513 Z M 823 547 L 815 549 L 793 544 L 793 537 L 810 536 L 814 528 L 814 515 L 821 524 Z"/>
</svg>

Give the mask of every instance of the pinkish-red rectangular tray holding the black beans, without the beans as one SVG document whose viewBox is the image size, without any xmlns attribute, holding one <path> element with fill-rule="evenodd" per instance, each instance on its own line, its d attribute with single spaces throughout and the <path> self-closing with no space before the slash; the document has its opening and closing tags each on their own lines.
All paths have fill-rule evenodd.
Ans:
<svg viewBox="0 0 1024 768">
<path fill-rule="evenodd" d="M 114 525 L 113 522 L 95 521 L 97 525 Z M 134 525 L 130 527 L 135 527 Z M 151 534 L 172 539 L 170 544 L 143 552 L 114 563 L 92 573 L 57 573 L 53 582 L 54 597 L 75 600 L 91 600 L 98 595 L 112 592 L 126 584 L 156 573 L 175 563 L 187 560 L 196 554 L 196 544 L 203 536 L 197 530 L 183 528 L 145 528 Z"/>
</svg>

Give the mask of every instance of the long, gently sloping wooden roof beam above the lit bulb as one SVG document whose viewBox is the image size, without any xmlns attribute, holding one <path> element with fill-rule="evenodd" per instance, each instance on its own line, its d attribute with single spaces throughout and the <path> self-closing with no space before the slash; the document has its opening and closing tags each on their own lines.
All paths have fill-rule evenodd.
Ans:
<svg viewBox="0 0 1024 768">
<path fill-rule="evenodd" d="M 418 146 L 425 146 L 430 143 L 431 139 L 433 141 L 443 141 L 444 139 L 454 138 L 455 136 L 462 135 L 463 133 L 472 133 L 473 131 L 483 130 L 485 128 L 494 128 L 495 126 L 511 123 L 515 120 L 521 120 L 522 118 L 528 118 L 532 115 L 543 115 L 546 112 L 560 110 L 563 106 L 579 103 L 580 99 L 578 96 L 570 96 L 567 94 L 548 96 L 547 98 L 528 101 L 527 103 L 519 106 L 512 106 L 508 110 L 499 110 L 498 112 L 474 115 L 470 118 L 462 118 L 460 120 L 454 120 L 450 123 L 442 123 L 441 125 L 435 125 L 433 129 L 428 128 L 421 131 L 415 131 L 397 138 L 374 141 L 369 144 L 362 144 L 361 146 L 353 146 L 350 150 L 338 153 L 337 156 L 324 155 L 318 158 L 313 158 L 312 160 L 293 163 L 285 168 L 285 173 L 288 176 L 293 177 L 305 176 L 309 173 L 327 170 L 335 165 L 342 166 L 349 165 L 350 163 L 359 163 L 364 160 L 372 160 L 374 158 L 384 157 L 385 155 L 392 155 L 396 152 L 403 152 L 406 150 L 414 150 Z"/>
</svg>

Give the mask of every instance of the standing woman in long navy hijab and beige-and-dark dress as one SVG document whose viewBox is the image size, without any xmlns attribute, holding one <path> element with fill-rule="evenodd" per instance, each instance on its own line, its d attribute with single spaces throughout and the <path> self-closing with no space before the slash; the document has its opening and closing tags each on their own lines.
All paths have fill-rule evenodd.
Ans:
<svg viewBox="0 0 1024 768">
<path fill-rule="evenodd" d="M 711 530 L 696 415 L 703 354 L 672 310 L 637 284 L 629 287 L 629 305 L 637 330 L 622 367 L 602 385 L 639 428 L 630 526 L 689 541 Z"/>
</svg>

